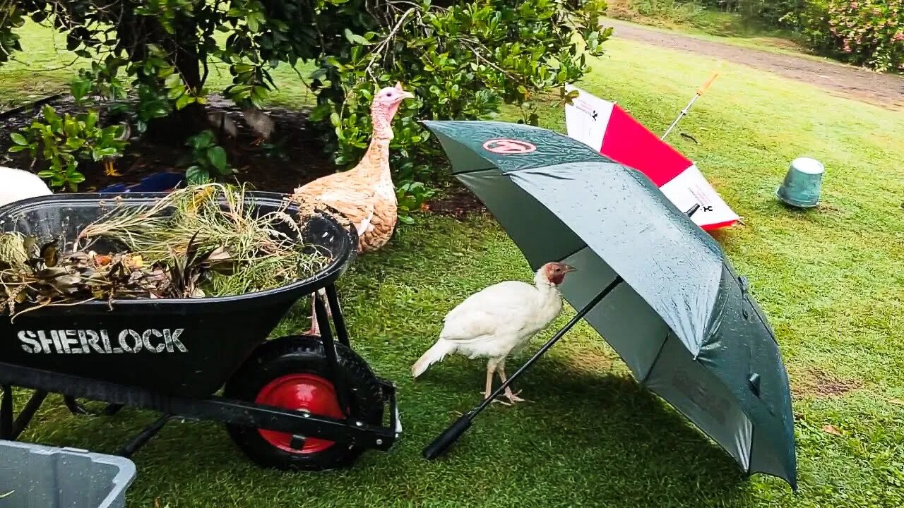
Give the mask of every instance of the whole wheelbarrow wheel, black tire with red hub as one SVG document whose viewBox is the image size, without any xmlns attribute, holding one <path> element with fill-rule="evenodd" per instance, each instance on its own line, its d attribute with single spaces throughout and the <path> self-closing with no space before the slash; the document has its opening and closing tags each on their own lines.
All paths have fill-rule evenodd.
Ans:
<svg viewBox="0 0 904 508">
<path fill-rule="evenodd" d="M 363 359 L 336 343 L 338 365 L 352 393 L 354 419 L 379 425 L 383 418 L 380 383 Z M 281 337 L 265 343 L 232 376 L 223 396 L 284 409 L 304 409 L 315 415 L 342 418 L 342 410 L 324 345 L 318 337 Z M 259 466 L 284 470 L 318 471 L 350 466 L 364 449 L 285 432 L 227 425 L 235 444 Z"/>
</svg>

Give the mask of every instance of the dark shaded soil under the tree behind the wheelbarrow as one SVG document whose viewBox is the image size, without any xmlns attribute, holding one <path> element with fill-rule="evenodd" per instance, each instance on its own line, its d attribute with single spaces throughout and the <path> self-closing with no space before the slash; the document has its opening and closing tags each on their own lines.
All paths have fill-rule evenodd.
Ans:
<svg viewBox="0 0 904 508">
<path fill-rule="evenodd" d="M 83 110 L 71 98 L 55 99 L 50 105 L 60 115 L 77 114 Z M 235 176 L 238 181 L 250 183 L 259 190 L 287 193 L 301 184 L 336 171 L 336 166 L 318 141 L 314 127 L 307 120 L 306 111 L 268 109 L 268 114 L 276 123 L 273 136 L 266 146 L 251 146 L 254 136 L 231 101 L 211 97 L 210 106 L 210 110 L 226 111 L 239 126 L 239 138 L 222 143 L 230 154 L 231 165 L 237 169 Z M 25 108 L 9 115 L 0 114 L 0 132 L 12 133 L 31 124 L 34 118 L 40 118 L 40 110 L 40 107 Z M 105 119 L 106 115 L 102 114 L 101 122 Z M 8 134 L 0 136 L 0 165 L 32 168 L 31 156 L 27 152 L 9 153 L 7 150 L 11 145 Z M 97 191 L 113 183 L 137 183 L 147 174 L 160 171 L 184 171 L 189 165 L 190 154 L 191 149 L 187 146 L 166 146 L 133 136 L 126 153 L 116 161 L 122 176 L 107 176 L 102 165 L 80 161 L 79 168 L 86 181 L 80 185 L 79 191 Z"/>
</svg>

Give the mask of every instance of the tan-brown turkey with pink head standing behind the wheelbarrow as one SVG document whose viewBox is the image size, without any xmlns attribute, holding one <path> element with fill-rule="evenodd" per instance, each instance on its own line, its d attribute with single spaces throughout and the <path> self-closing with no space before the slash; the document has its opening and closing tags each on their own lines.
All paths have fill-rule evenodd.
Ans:
<svg viewBox="0 0 904 508">
<path fill-rule="evenodd" d="M 353 169 L 328 174 L 295 190 L 292 199 L 309 205 L 325 204 L 341 213 L 358 232 L 358 252 L 372 252 L 386 245 L 395 230 L 398 202 L 390 172 L 390 142 L 392 118 L 399 111 L 402 100 L 414 95 L 401 88 L 381 89 L 373 97 L 371 120 L 373 134 L 361 162 Z M 311 298 L 311 334 L 320 329 Z M 329 311 L 329 305 L 326 306 Z"/>
</svg>

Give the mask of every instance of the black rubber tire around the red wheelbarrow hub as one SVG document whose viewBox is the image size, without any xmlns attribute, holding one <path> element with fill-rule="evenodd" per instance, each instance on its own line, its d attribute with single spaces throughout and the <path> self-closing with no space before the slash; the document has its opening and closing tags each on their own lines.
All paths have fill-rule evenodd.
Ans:
<svg viewBox="0 0 904 508">
<path fill-rule="evenodd" d="M 337 375 L 353 392 L 354 419 L 380 425 L 383 418 L 383 396 L 380 383 L 367 362 L 341 343 L 336 343 Z M 319 337 L 295 335 L 280 337 L 261 345 L 248 362 L 233 375 L 223 388 L 223 396 L 253 402 L 270 381 L 279 377 L 311 373 L 330 380 Z M 332 380 L 330 380 L 332 381 Z M 232 441 L 259 466 L 282 470 L 320 471 L 351 466 L 366 449 L 335 443 L 318 452 L 291 453 L 262 437 L 257 428 L 227 425 Z"/>
</svg>

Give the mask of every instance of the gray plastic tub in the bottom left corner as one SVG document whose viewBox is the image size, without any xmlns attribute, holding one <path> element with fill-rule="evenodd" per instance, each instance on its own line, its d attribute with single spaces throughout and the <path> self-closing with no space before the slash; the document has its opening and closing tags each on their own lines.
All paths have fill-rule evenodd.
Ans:
<svg viewBox="0 0 904 508">
<path fill-rule="evenodd" d="M 121 456 L 0 441 L 0 508 L 121 508 L 134 479 Z"/>
</svg>

